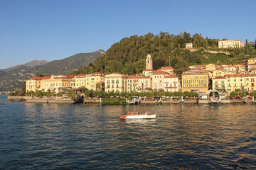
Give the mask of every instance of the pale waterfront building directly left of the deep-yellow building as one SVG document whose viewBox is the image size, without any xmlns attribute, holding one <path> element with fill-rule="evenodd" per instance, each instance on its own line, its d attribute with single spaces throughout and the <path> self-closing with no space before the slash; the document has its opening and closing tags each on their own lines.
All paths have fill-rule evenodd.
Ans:
<svg viewBox="0 0 256 170">
<path fill-rule="evenodd" d="M 164 91 L 178 91 L 178 77 L 170 75 L 164 77 Z"/>
</svg>

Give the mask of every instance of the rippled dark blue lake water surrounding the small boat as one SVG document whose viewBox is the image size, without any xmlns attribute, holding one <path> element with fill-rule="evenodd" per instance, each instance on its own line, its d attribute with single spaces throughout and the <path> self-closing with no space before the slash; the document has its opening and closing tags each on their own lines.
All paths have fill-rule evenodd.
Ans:
<svg viewBox="0 0 256 170">
<path fill-rule="evenodd" d="M 256 169 L 255 107 L 7 103 L 0 169 Z"/>
</svg>

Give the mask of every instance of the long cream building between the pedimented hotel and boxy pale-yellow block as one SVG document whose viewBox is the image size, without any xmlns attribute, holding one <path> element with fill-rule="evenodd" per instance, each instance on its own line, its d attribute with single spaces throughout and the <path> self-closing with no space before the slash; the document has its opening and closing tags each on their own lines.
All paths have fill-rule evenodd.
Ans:
<svg viewBox="0 0 256 170">
<path fill-rule="evenodd" d="M 75 88 L 85 87 L 96 91 L 96 84 L 105 81 L 105 75 L 105 73 L 100 72 L 75 75 Z"/>
</svg>

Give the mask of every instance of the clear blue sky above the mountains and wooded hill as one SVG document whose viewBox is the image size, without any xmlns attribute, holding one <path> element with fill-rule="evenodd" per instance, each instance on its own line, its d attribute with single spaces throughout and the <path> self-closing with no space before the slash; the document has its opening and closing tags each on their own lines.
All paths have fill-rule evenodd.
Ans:
<svg viewBox="0 0 256 170">
<path fill-rule="evenodd" d="M 255 41 L 256 1 L 0 0 L 0 69 L 107 50 L 131 35 Z"/>
</svg>

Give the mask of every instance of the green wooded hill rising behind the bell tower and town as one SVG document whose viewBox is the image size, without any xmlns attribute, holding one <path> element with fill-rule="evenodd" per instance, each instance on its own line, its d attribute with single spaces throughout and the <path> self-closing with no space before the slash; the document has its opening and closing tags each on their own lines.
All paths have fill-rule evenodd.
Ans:
<svg viewBox="0 0 256 170">
<path fill-rule="evenodd" d="M 196 51 L 187 50 L 186 42 L 192 42 Z M 212 54 L 206 50 L 220 51 L 223 49 L 218 48 L 218 39 L 203 38 L 198 33 L 191 35 L 183 32 L 170 35 L 160 32 L 159 35 L 152 33 L 141 36 L 133 35 L 114 43 L 104 56 L 97 57 L 94 64 L 90 63 L 87 67 L 81 66 L 70 75 L 92 72 L 138 74 L 145 69 L 145 58 L 148 54 L 153 57 L 154 69 L 171 66 L 178 75 L 188 70 L 190 65 L 235 64 L 245 62 L 250 57 L 256 57 L 256 50 L 247 43 L 247 40 L 245 47 L 241 49 L 223 50 L 223 52 L 229 52 L 230 55 Z"/>
</svg>

